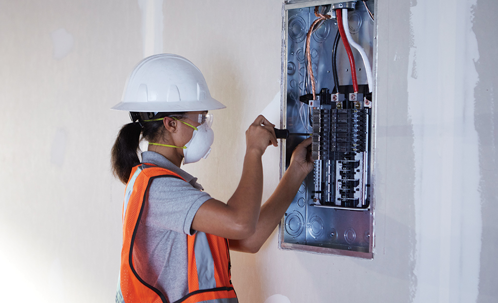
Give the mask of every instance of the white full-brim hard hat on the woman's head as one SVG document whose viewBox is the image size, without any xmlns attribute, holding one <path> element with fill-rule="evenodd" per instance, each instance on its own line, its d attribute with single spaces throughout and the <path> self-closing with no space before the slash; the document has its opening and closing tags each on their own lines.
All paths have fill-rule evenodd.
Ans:
<svg viewBox="0 0 498 303">
<path fill-rule="evenodd" d="M 128 76 L 121 102 L 129 112 L 188 112 L 221 109 L 201 71 L 187 59 L 159 54 L 140 61 Z"/>
</svg>

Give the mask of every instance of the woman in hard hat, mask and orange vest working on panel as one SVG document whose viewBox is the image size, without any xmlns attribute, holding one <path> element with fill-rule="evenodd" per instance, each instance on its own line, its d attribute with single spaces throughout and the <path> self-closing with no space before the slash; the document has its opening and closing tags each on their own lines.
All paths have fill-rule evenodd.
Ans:
<svg viewBox="0 0 498 303">
<path fill-rule="evenodd" d="M 112 151 L 113 171 L 127 184 L 116 302 L 238 302 L 229 246 L 257 252 L 312 170 L 307 139 L 261 207 L 261 156 L 277 139 L 274 125 L 258 116 L 246 131 L 244 168 L 233 196 L 224 203 L 205 193 L 180 166 L 207 157 L 214 140 L 208 111 L 224 107 L 211 97 L 201 72 L 177 55 L 145 58 L 129 76 L 114 107 L 129 111 L 132 120 Z M 149 144 L 141 161 L 140 138 Z"/>
</svg>

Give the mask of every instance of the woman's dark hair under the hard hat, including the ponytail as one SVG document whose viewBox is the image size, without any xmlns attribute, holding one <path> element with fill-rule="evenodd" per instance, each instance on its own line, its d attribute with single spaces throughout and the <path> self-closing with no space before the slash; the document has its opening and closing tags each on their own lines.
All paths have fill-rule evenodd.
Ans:
<svg viewBox="0 0 498 303">
<path fill-rule="evenodd" d="M 162 120 L 144 122 L 142 118 L 137 118 L 140 115 L 136 114 L 137 113 L 130 113 L 130 116 L 132 117 L 131 119 L 134 122 L 125 124 L 121 128 L 113 149 L 111 150 L 111 165 L 113 174 L 124 184 L 128 183 L 133 166 L 140 163 L 140 159 L 138 158 L 140 141 L 156 141 L 160 136 L 162 136 L 165 130 Z M 184 114 L 184 112 L 160 112 L 154 115 L 151 119 L 159 119 L 164 117 L 182 118 Z M 137 121 L 135 121 L 135 118 Z"/>
</svg>

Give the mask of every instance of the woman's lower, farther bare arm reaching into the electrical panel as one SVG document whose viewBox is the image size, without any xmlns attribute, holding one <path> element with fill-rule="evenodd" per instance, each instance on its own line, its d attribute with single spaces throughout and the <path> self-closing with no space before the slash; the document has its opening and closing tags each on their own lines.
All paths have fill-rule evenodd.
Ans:
<svg viewBox="0 0 498 303">
<path fill-rule="evenodd" d="M 277 188 L 261 207 L 255 232 L 245 239 L 231 239 L 230 249 L 255 253 L 271 235 L 294 199 L 303 179 L 313 169 L 309 149 L 311 138 L 299 144 Z"/>
</svg>

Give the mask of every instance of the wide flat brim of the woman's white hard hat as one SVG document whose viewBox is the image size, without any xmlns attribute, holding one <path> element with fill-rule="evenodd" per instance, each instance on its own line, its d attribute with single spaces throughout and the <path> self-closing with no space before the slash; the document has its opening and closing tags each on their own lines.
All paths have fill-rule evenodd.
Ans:
<svg viewBox="0 0 498 303">
<path fill-rule="evenodd" d="M 111 109 L 129 112 L 190 112 L 223 108 L 226 108 L 226 106 L 221 102 L 209 98 L 202 100 L 202 103 L 197 100 L 191 102 L 120 102 Z"/>
</svg>

